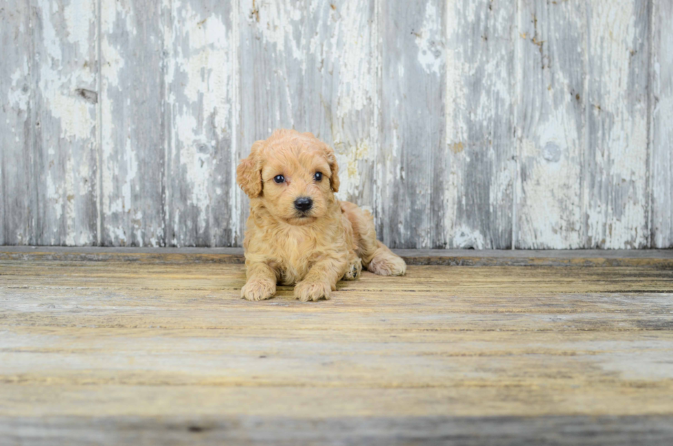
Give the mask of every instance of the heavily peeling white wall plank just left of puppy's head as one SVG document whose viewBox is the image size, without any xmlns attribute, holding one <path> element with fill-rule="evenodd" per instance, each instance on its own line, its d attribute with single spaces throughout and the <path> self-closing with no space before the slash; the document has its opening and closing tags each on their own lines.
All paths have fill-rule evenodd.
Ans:
<svg viewBox="0 0 673 446">
<path fill-rule="evenodd" d="M 232 5 L 190 0 L 170 10 L 168 245 L 231 246 L 238 236 Z"/>
</svg>

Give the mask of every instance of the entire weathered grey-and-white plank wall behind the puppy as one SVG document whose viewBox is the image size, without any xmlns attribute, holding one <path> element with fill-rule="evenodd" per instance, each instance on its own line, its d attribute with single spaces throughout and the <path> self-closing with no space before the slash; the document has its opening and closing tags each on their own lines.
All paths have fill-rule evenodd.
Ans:
<svg viewBox="0 0 673 446">
<path fill-rule="evenodd" d="M 240 245 L 332 144 L 393 247 L 673 246 L 670 0 L 3 0 L 0 245 Z"/>
</svg>

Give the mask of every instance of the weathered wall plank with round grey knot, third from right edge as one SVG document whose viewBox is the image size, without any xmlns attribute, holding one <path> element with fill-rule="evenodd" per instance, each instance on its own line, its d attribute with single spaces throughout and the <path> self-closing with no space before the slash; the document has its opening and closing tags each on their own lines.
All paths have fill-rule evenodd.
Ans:
<svg viewBox="0 0 673 446">
<path fill-rule="evenodd" d="M 515 246 L 580 248 L 585 10 L 573 2 L 523 0 L 518 14 Z"/>
</svg>

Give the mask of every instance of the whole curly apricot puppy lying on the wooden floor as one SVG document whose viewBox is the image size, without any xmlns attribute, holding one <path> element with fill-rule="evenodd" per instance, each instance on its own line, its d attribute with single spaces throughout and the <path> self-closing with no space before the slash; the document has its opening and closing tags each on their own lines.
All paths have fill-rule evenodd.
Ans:
<svg viewBox="0 0 673 446">
<path fill-rule="evenodd" d="M 253 144 L 236 174 L 250 197 L 242 298 L 269 299 L 280 282 L 295 285 L 299 300 L 329 299 L 339 279 L 355 280 L 362 267 L 382 276 L 407 270 L 376 240 L 372 215 L 334 197 L 334 151 L 312 133 L 273 132 Z"/>
</svg>

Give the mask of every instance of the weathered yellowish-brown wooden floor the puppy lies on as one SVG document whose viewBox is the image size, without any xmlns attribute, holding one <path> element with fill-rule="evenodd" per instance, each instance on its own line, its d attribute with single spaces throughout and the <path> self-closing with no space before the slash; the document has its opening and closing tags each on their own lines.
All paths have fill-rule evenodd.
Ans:
<svg viewBox="0 0 673 446">
<path fill-rule="evenodd" d="M 0 253 L 0 444 L 673 444 L 670 254 L 308 303 L 212 256 Z"/>
</svg>

